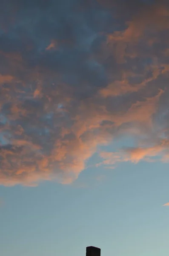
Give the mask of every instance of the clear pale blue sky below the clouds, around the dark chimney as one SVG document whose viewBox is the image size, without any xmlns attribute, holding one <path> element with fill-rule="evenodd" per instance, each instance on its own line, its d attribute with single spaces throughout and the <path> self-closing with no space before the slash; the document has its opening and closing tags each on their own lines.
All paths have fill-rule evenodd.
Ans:
<svg viewBox="0 0 169 256">
<path fill-rule="evenodd" d="M 122 163 L 86 170 L 72 185 L 1 187 L 1 253 L 85 255 L 94 245 L 103 256 L 167 255 L 168 176 L 167 165 Z"/>
</svg>

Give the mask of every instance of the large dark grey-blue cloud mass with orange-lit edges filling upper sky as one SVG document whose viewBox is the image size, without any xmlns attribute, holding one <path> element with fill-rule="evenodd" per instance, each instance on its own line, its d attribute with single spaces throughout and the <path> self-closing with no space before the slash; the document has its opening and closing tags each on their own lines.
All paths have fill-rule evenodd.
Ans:
<svg viewBox="0 0 169 256">
<path fill-rule="evenodd" d="M 4 0 L 0 10 L 0 184 L 72 183 L 101 145 L 127 136 L 135 146 L 98 165 L 168 161 L 167 1 Z"/>
</svg>

